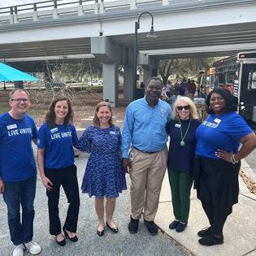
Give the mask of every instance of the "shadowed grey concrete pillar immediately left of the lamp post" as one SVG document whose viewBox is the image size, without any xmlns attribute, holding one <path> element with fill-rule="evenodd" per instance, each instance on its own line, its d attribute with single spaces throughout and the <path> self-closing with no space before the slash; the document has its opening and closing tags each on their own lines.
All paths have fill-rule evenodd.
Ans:
<svg viewBox="0 0 256 256">
<path fill-rule="evenodd" d="M 125 65 L 124 66 L 124 101 L 132 102 L 133 97 L 133 67 Z"/>
</svg>

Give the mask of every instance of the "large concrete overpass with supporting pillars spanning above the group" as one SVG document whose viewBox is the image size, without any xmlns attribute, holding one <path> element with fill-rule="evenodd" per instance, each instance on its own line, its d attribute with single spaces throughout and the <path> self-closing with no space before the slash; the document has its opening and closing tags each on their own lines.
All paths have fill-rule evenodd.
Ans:
<svg viewBox="0 0 256 256">
<path fill-rule="evenodd" d="M 0 8 L 0 59 L 96 58 L 103 63 L 104 97 L 113 102 L 116 65 L 124 64 L 124 93 L 131 99 L 134 23 L 143 11 L 154 15 L 158 35 L 145 37 L 151 20 L 141 17 L 138 63 L 147 76 L 158 59 L 256 50 L 255 0 L 80 0 Z"/>
</svg>

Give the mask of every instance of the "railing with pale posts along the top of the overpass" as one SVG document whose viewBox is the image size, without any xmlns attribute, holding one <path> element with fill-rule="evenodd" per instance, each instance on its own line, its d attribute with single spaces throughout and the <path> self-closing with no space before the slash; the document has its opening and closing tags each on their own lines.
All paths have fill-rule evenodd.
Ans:
<svg viewBox="0 0 256 256">
<path fill-rule="evenodd" d="M 171 7 L 171 10 L 186 10 L 196 7 L 249 4 L 255 0 L 46 0 L 0 8 L 0 26 L 18 24 L 22 21 L 58 19 L 67 16 L 99 15 L 111 11 L 154 9 Z"/>
</svg>

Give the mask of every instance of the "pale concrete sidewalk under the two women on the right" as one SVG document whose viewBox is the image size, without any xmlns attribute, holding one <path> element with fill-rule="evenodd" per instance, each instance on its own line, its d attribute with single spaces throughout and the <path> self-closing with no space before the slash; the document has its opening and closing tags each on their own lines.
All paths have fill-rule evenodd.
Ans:
<svg viewBox="0 0 256 256">
<path fill-rule="evenodd" d="M 249 168 L 249 165 L 242 161 L 242 169 Z M 248 170 L 247 170 L 248 171 Z M 197 199 L 195 190 L 191 193 L 191 206 L 188 227 L 184 232 L 178 233 L 168 228 L 169 223 L 174 220 L 171 206 L 171 192 L 168 176 L 163 180 L 163 187 L 160 196 L 158 214 L 155 223 L 158 227 L 171 236 L 175 241 L 189 249 L 197 256 L 241 256 L 256 255 L 256 195 L 249 193 L 243 180 L 240 179 L 240 195 L 238 204 L 233 206 L 232 215 L 223 229 L 224 244 L 215 246 L 202 246 L 198 243 L 197 232 L 208 227 L 209 223 L 201 202 Z"/>
</svg>

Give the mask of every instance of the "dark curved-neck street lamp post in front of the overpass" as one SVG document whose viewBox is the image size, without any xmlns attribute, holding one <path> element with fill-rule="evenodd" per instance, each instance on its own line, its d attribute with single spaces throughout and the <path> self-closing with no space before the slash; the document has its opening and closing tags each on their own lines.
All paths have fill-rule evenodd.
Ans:
<svg viewBox="0 0 256 256">
<path fill-rule="evenodd" d="M 134 58 L 133 58 L 133 100 L 136 98 L 136 90 L 137 90 L 137 46 L 138 46 L 138 29 L 140 29 L 140 20 L 142 15 L 150 15 L 151 17 L 151 28 L 150 32 L 146 34 L 146 37 L 157 37 L 154 32 L 154 17 L 149 11 L 142 12 L 138 20 L 135 22 L 135 38 L 134 38 Z"/>
</svg>

